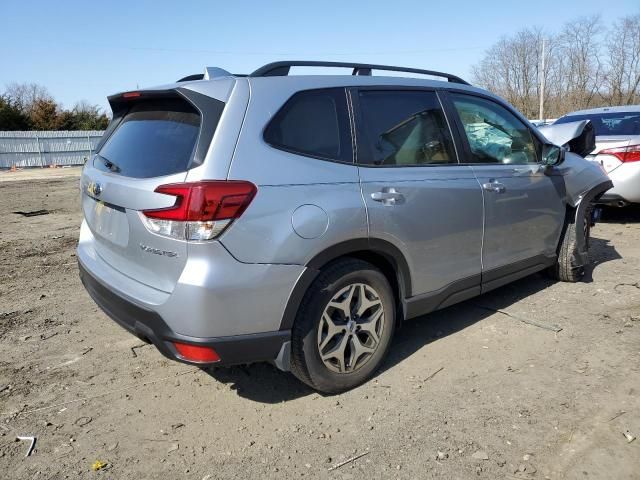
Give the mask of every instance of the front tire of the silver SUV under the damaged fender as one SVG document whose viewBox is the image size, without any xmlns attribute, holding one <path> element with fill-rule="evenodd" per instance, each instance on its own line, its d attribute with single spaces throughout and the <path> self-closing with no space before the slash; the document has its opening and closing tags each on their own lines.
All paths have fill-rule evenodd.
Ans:
<svg viewBox="0 0 640 480">
<path fill-rule="evenodd" d="M 584 238 L 587 243 L 587 253 L 589 251 L 589 235 L 591 234 L 591 211 L 592 207 L 587 208 L 584 219 Z M 585 266 L 590 262 L 587 259 L 584 265 L 576 264 L 576 256 L 578 253 L 578 244 L 576 241 L 576 221 L 575 216 L 567 213 L 565 220 L 564 233 L 560 239 L 558 249 L 558 260 L 555 265 L 548 270 L 549 275 L 562 282 L 578 282 L 584 277 Z"/>
</svg>

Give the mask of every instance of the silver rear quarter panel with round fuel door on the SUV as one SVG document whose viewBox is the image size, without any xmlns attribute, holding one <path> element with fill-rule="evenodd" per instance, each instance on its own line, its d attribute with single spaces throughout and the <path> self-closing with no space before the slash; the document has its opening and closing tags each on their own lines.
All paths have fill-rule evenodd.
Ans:
<svg viewBox="0 0 640 480">
<path fill-rule="evenodd" d="M 285 152 L 263 140 L 269 120 L 298 90 L 278 78 L 251 83 L 228 178 L 249 180 L 258 193 L 221 237 L 241 262 L 304 265 L 334 244 L 367 237 L 355 165 Z"/>
</svg>

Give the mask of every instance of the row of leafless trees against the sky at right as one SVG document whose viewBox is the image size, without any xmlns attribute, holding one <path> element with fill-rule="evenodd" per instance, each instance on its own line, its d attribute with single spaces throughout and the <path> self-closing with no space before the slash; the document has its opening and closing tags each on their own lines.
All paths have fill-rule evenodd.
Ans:
<svg viewBox="0 0 640 480">
<path fill-rule="evenodd" d="M 546 118 L 640 103 L 640 14 L 611 25 L 599 16 L 581 17 L 556 33 L 525 28 L 500 39 L 473 68 L 476 85 L 528 118 L 538 118 L 543 79 Z"/>
</svg>

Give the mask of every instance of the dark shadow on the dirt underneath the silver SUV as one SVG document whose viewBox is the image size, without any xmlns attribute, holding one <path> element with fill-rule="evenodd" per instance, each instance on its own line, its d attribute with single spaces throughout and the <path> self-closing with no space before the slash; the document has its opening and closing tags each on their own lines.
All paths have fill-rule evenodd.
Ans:
<svg viewBox="0 0 640 480">
<path fill-rule="evenodd" d="M 586 272 L 587 282 L 592 281 L 593 270 L 599 265 L 621 258 L 606 239 L 592 238 L 591 248 L 594 264 Z M 389 357 L 370 381 L 375 381 L 381 373 L 393 368 L 422 347 L 493 315 L 492 309 L 508 309 L 514 303 L 545 290 L 554 283 L 555 281 L 544 273 L 538 273 L 458 305 L 406 322 L 394 337 Z M 438 367 L 429 366 L 433 371 Z M 260 403 L 279 403 L 315 393 L 291 374 L 267 363 L 230 368 L 214 367 L 204 371 L 217 381 L 230 385 L 239 396 Z"/>
</svg>

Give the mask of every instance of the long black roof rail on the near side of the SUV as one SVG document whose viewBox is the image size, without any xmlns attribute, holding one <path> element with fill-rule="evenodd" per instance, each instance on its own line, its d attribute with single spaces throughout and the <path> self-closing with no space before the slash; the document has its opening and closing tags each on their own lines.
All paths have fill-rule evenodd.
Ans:
<svg viewBox="0 0 640 480">
<path fill-rule="evenodd" d="M 471 85 L 469 82 L 451 75 L 450 73 L 437 72 L 435 70 L 422 70 L 419 68 L 392 67 L 389 65 L 373 65 L 369 63 L 350 63 L 350 62 L 316 62 L 305 60 L 292 60 L 284 62 L 268 63 L 249 74 L 250 77 L 278 77 L 289 75 L 291 67 L 345 67 L 353 68 L 352 75 L 371 75 L 371 70 L 387 70 L 390 72 L 406 72 L 419 73 L 422 75 L 431 75 L 434 77 L 446 78 L 447 81 L 453 83 L 461 83 L 463 85 Z"/>
</svg>

